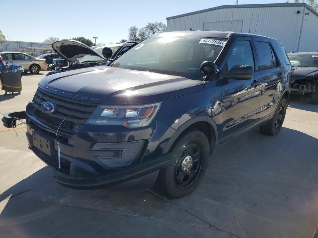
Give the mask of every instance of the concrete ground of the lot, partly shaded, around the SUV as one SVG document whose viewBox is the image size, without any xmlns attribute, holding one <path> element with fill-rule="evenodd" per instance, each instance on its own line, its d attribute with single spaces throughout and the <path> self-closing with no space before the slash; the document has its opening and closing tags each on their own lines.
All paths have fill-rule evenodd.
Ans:
<svg viewBox="0 0 318 238">
<path fill-rule="evenodd" d="M 24 75 L 21 95 L 0 95 L 0 112 L 23 110 L 43 76 Z M 0 237 L 311 238 L 318 106 L 306 100 L 291 101 L 278 136 L 254 130 L 220 147 L 199 187 L 178 200 L 149 191 L 156 174 L 100 190 L 62 187 L 28 150 L 25 126 L 1 125 Z"/>
</svg>

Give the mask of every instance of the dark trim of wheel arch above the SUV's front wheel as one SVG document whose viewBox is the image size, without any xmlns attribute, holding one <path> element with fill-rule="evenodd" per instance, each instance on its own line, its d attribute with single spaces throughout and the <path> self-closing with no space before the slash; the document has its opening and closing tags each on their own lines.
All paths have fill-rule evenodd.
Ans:
<svg viewBox="0 0 318 238">
<path fill-rule="evenodd" d="M 213 153 L 216 141 L 218 140 L 218 130 L 217 125 L 213 119 L 207 116 L 199 116 L 193 119 L 187 120 L 183 123 L 177 131 L 173 134 L 173 136 L 169 139 L 168 143 L 164 147 L 164 153 L 170 151 L 173 147 L 177 139 L 187 130 L 191 128 L 197 128 L 201 130 L 208 138 L 210 144 L 210 154 Z"/>
</svg>

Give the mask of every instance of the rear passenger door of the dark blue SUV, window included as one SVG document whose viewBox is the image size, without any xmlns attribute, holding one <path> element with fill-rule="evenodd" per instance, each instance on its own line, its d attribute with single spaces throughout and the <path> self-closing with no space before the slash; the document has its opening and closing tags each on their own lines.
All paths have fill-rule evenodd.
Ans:
<svg viewBox="0 0 318 238">
<path fill-rule="evenodd" d="M 283 70 L 277 53 L 271 42 L 266 39 L 254 38 L 257 52 L 258 68 L 261 73 L 262 89 L 259 98 L 259 111 L 255 114 L 257 121 L 270 117 L 278 103 L 279 92 L 282 90 Z"/>
</svg>

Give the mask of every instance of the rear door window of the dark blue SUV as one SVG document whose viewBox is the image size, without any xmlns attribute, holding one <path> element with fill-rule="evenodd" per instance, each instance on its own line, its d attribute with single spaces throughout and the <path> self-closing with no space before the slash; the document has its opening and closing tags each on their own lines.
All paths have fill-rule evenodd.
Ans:
<svg viewBox="0 0 318 238">
<path fill-rule="evenodd" d="M 259 57 L 259 69 L 264 70 L 276 67 L 276 58 L 271 46 L 267 42 L 262 41 L 256 41 L 255 46 Z"/>
</svg>

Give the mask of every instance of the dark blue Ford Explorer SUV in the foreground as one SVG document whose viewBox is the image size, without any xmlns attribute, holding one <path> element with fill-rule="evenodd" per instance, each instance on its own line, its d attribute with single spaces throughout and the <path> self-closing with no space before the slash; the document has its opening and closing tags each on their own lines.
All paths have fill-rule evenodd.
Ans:
<svg viewBox="0 0 318 238">
<path fill-rule="evenodd" d="M 276 135 L 291 66 L 274 39 L 232 32 L 154 35 L 110 66 L 43 78 L 26 108 L 30 148 L 72 188 L 159 171 L 178 198 L 202 179 L 216 145 L 255 126 Z"/>
</svg>

